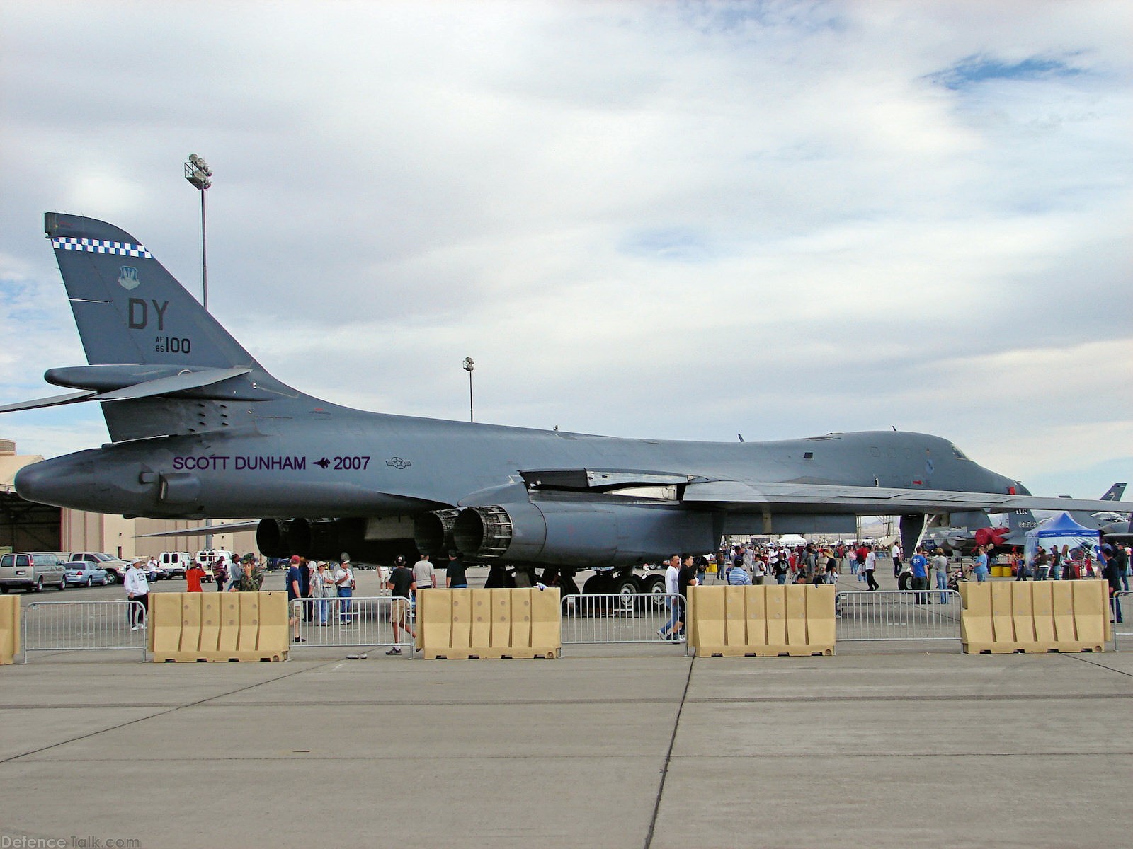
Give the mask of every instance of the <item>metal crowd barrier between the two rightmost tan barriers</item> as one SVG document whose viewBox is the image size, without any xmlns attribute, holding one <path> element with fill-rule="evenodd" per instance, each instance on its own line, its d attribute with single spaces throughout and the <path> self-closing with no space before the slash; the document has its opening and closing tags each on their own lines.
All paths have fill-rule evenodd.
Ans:
<svg viewBox="0 0 1133 849">
<path fill-rule="evenodd" d="M 895 640 L 959 643 L 961 610 L 960 593 L 955 590 L 840 592 L 834 602 L 835 629 L 840 643 Z"/>
</svg>

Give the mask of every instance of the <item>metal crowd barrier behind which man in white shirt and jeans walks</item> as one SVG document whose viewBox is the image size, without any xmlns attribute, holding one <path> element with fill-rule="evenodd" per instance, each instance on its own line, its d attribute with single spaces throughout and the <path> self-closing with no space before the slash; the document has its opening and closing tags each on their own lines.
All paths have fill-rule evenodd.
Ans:
<svg viewBox="0 0 1133 849">
<path fill-rule="evenodd" d="M 670 621 L 681 599 L 668 593 L 587 593 L 564 595 L 563 645 L 604 643 L 665 643 L 658 632 Z M 683 637 L 684 653 L 689 653 Z"/>
</svg>

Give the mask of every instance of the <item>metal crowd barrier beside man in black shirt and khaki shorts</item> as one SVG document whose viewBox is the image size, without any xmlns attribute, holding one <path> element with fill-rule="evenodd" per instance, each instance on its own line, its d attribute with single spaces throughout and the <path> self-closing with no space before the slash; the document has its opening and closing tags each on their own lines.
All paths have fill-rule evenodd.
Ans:
<svg viewBox="0 0 1133 849">
<path fill-rule="evenodd" d="M 412 657 L 412 637 L 404 627 L 399 627 L 398 637 L 394 638 L 393 619 L 399 625 L 407 625 L 416 631 L 414 614 L 412 604 L 403 598 L 392 595 L 295 599 L 291 602 L 291 616 L 299 618 L 299 636 L 303 642 L 292 640 L 291 648 L 389 646 L 400 648 L 406 657 Z M 295 633 L 293 629 L 291 633 Z"/>
</svg>

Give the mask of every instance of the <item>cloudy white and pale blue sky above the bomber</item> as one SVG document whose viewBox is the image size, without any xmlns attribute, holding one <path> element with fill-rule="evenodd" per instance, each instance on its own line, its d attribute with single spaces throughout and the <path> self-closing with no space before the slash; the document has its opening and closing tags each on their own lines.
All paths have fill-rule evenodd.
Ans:
<svg viewBox="0 0 1133 849">
<path fill-rule="evenodd" d="M 42 213 L 111 221 L 327 400 L 676 439 L 920 430 L 1133 480 L 1133 6 L 0 9 L 0 403 L 84 362 Z M 94 405 L 7 414 L 56 455 Z"/>
</svg>

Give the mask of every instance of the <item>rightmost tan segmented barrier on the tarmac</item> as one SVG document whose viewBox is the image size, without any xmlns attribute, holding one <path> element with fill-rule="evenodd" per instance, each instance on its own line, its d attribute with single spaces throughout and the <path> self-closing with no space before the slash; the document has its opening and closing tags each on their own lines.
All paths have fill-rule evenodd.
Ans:
<svg viewBox="0 0 1133 849">
<path fill-rule="evenodd" d="M 1110 635 L 1105 581 L 963 582 L 968 654 L 1100 652 Z"/>
</svg>

